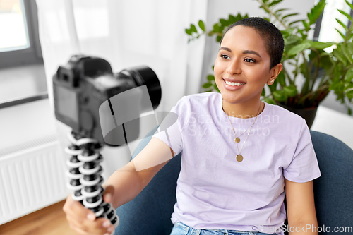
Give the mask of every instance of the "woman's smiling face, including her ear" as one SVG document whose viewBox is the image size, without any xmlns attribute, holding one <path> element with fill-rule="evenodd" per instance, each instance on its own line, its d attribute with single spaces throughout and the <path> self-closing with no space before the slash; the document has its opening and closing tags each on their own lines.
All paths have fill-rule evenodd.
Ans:
<svg viewBox="0 0 353 235">
<path fill-rule="evenodd" d="M 263 38 L 251 27 L 234 26 L 223 37 L 215 61 L 215 82 L 223 101 L 258 104 L 266 83 L 271 85 L 282 64 L 270 70 Z"/>
</svg>

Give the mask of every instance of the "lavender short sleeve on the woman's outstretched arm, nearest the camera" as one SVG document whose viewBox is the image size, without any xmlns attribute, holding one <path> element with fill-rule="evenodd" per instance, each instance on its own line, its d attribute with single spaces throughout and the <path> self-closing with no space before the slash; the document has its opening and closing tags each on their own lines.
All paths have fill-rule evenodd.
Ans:
<svg viewBox="0 0 353 235">
<path fill-rule="evenodd" d="M 158 128 L 156 133 L 152 136 L 166 143 L 170 148 L 172 148 L 175 155 L 179 154 L 179 152 L 183 149 L 182 132 L 185 123 L 187 123 L 187 101 L 187 97 L 182 97 L 177 105 L 172 107 L 170 112 L 160 124 L 160 128 Z"/>
</svg>

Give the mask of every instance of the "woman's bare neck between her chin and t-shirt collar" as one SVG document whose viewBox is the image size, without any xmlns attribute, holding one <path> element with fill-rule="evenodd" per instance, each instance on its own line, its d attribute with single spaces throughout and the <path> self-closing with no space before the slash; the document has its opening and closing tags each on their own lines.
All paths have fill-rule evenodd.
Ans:
<svg viewBox="0 0 353 235">
<path fill-rule="evenodd" d="M 234 116 L 240 119 L 249 119 L 263 112 L 265 104 L 261 100 L 249 103 L 232 104 L 222 100 L 222 109 L 228 116 Z"/>
</svg>

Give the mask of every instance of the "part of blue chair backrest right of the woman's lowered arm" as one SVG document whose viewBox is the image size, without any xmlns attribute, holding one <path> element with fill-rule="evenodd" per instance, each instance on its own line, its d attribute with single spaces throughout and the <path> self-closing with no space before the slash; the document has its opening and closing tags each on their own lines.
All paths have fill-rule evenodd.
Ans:
<svg viewBox="0 0 353 235">
<path fill-rule="evenodd" d="M 311 131 L 311 140 L 318 158 L 321 177 L 314 179 L 318 227 L 321 234 L 353 234 L 353 150 L 331 135 Z M 331 231 L 328 231 L 330 227 Z M 342 232 L 340 227 L 350 227 Z"/>
</svg>

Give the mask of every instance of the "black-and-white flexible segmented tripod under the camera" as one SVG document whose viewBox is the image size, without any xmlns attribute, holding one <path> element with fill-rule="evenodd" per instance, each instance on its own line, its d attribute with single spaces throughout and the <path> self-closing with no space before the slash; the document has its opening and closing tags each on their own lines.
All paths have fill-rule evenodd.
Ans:
<svg viewBox="0 0 353 235">
<path fill-rule="evenodd" d="M 71 157 L 66 162 L 68 166 L 66 175 L 70 179 L 67 186 L 73 191 L 73 200 L 92 210 L 97 218 L 109 219 L 116 228 L 119 217 L 112 203 L 105 203 L 102 196 L 104 179 L 100 175 L 103 171 L 100 166 L 100 162 L 103 161 L 100 150 L 103 145 L 95 139 L 85 138 L 73 132 L 68 133 L 68 140 L 71 145 L 65 148 L 65 152 Z"/>
</svg>

